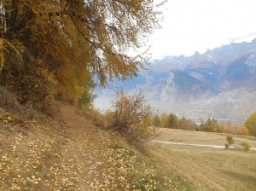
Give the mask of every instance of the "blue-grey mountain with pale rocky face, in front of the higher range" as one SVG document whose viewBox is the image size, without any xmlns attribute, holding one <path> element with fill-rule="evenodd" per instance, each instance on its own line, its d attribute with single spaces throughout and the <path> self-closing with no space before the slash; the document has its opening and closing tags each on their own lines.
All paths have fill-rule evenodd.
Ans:
<svg viewBox="0 0 256 191">
<path fill-rule="evenodd" d="M 160 102 L 194 101 L 202 97 L 218 95 L 218 90 L 185 72 L 178 70 L 156 73 L 149 72 L 152 80 L 141 86 L 148 94 L 148 99 Z"/>
</svg>

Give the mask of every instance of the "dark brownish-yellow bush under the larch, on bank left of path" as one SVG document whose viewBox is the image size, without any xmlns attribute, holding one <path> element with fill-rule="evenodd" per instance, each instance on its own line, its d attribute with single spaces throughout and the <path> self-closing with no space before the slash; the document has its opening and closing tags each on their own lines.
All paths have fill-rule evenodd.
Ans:
<svg viewBox="0 0 256 191">
<path fill-rule="evenodd" d="M 57 81 L 44 61 L 26 61 L 22 67 L 6 65 L 0 75 L 0 85 L 15 92 L 17 101 L 32 105 L 43 113 L 50 113 Z"/>
</svg>

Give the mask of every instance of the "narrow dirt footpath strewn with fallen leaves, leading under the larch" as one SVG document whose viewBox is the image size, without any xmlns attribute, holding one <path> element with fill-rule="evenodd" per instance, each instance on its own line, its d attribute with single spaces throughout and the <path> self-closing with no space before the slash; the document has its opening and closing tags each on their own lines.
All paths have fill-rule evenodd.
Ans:
<svg viewBox="0 0 256 191">
<path fill-rule="evenodd" d="M 74 179 L 79 190 L 108 190 L 108 177 L 104 176 L 109 139 L 106 131 L 97 129 L 83 114 L 67 105 L 59 104 L 62 120 L 67 125 L 69 142 L 62 148 L 63 164 L 72 163 Z M 71 169 L 72 170 L 72 169 Z"/>
</svg>

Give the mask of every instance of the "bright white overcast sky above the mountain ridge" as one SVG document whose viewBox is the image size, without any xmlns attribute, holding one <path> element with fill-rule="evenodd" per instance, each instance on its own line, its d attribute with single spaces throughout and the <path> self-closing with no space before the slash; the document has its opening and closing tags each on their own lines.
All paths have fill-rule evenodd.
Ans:
<svg viewBox="0 0 256 191">
<path fill-rule="evenodd" d="M 153 59 L 256 38 L 256 0 L 168 0 L 163 14 L 162 29 L 148 38 Z"/>
</svg>

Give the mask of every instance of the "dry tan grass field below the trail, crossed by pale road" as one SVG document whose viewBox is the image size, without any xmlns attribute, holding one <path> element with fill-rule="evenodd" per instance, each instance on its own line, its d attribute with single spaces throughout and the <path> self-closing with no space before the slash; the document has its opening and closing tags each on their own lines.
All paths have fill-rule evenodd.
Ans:
<svg viewBox="0 0 256 191">
<path fill-rule="evenodd" d="M 184 130 L 161 130 L 157 140 L 192 144 L 224 145 L 225 134 Z M 233 136 L 235 144 L 251 142 L 256 137 Z M 154 153 L 165 159 L 171 171 L 180 171 L 195 182 L 198 190 L 255 190 L 256 152 L 170 144 L 157 144 Z M 204 177 L 203 177 L 204 176 Z"/>
</svg>

